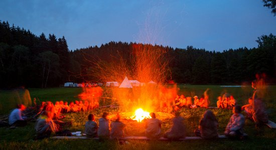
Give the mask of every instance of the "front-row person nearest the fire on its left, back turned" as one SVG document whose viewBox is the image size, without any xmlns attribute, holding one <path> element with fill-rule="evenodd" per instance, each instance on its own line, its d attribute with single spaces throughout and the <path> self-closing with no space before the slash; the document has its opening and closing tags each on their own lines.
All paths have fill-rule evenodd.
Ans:
<svg viewBox="0 0 276 150">
<path fill-rule="evenodd" d="M 111 127 L 111 139 L 120 139 L 124 136 L 124 127 L 125 124 L 120 121 L 120 115 L 117 114 L 116 120 L 111 122 L 110 124 Z"/>
</svg>

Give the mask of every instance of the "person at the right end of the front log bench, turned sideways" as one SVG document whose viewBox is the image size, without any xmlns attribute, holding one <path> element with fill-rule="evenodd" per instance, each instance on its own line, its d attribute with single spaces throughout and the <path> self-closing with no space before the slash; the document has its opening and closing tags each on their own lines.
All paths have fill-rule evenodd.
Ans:
<svg viewBox="0 0 276 150">
<path fill-rule="evenodd" d="M 229 122 L 225 128 L 224 134 L 230 137 L 242 137 L 244 131 L 243 126 L 245 123 L 244 116 L 240 113 L 241 107 L 236 105 L 233 107 L 233 115 L 230 117 Z"/>
</svg>

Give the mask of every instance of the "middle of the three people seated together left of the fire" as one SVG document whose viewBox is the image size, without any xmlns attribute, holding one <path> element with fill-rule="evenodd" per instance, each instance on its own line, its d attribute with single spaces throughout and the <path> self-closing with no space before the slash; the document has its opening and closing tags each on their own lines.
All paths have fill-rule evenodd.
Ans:
<svg viewBox="0 0 276 150">
<path fill-rule="evenodd" d="M 99 119 L 98 136 L 101 138 L 108 138 L 110 135 L 110 127 L 108 120 L 108 113 L 103 112 L 102 117 Z"/>
</svg>

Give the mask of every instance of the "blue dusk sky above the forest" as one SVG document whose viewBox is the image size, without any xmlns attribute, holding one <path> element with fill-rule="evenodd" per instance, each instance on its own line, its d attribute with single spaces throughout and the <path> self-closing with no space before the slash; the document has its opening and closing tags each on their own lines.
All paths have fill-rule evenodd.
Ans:
<svg viewBox="0 0 276 150">
<path fill-rule="evenodd" d="M 252 48 L 258 36 L 276 35 L 270 11 L 262 0 L 0 0 L 0 20 L 64 35 L 72 50 L 109 41 Z"/>
</svg>

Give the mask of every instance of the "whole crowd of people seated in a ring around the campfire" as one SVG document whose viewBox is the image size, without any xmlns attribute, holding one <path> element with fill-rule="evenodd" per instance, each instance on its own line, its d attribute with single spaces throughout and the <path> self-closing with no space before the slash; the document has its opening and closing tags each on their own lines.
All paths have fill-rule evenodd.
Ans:
<svg viewBox="0 0 276 150">
<path fill-rule="evenodd" d="M 224 134 L 230 137 L 244 138 L 244 124 L 245 117 L 241 114 L 244 110 L 246 113 L 246 118 L 251 119 L 255 122 L 257 128 L 267 123 L 268 117 L 265 112 L 264 107 L 264 90 L 266 85 L 261 78 L 257 78 L 252 81 L 252 87 L 254 89 L 252 97 L 248 99 L 248 104 L 240 106 L 237 104 L 233 95 L 224 93 L 222 96 L 217 97 L 217 108 L 232 109 L 233 115 L 230 117 L 227 126 L 225 127 Z M 192 101 L 191 97 L 185 97 L 182 95 L 177 95 L 174 105 L 173 113 L 175 117 L 173 118 L 172 127 L 165 132 L 163 137 L 168 139 L 179 139 L 185 138 L 185 124 L 183 122 L 184 118 L 180 115 L 179 111 L 183 107 L 186 108 L 198 108 L 209 106 L 209 96 L 207 89 L 204 94 L 198 98 L 194 96 Z M 63 130 L 64 125 L 72 125 L 72 122 L 64 122 L 60 119 L 65 116 L 62 115 L 68 112 L 80 112 L 88 111 L 94 108 L 98 108 L 99 103 L 95 100 L 93 102 L 88 102 L 82 100 L 70 102 L 56 101 L 53 104 L 51 101 L 42 102 L 40 106 L 40 111 L 37 114 L 37 121 L 35 129 L 37 131 L 37 139 L 42 139 L 49 137 L 51 133 L 56 133 L 56 135 L 70 135 L 69 130 Z M 26 109 L 25 105 L 19 104 L 18 108 L 14 109 L 9 117 L 10 128 L 15 128 L 17 126 L 25 126 L 28 119 L 25 118 L 22 112 Z M 116 114 L 115 121 L 110 123 L 108 112 L 103 112 L 102 117 L 99 118 L 98 122 L 95 121 L 94 114 L 88 115 L 88 121 L 85 123 L 85 134 L 87 137 L 100 137 L 100 138 L 111 138 L 120 139 L 124 137 L 125 124 L 120 120 L 120 114 Z M 161 126 L 162 122 L 156 118 L 155 112 L 150 113 L 151 118 L 145 120 L 145 134 L 149 138 L 159 138 L 162 136 Z M 36 117 L 36 116 L 35 116 Z M 208 109 L 204 112 L 199 127 L 195 129 L 195 135 L 201 136 L 206 139 L 214 139 L 218 137 L 218 120 L 214 113 Z"/>
</svg>

